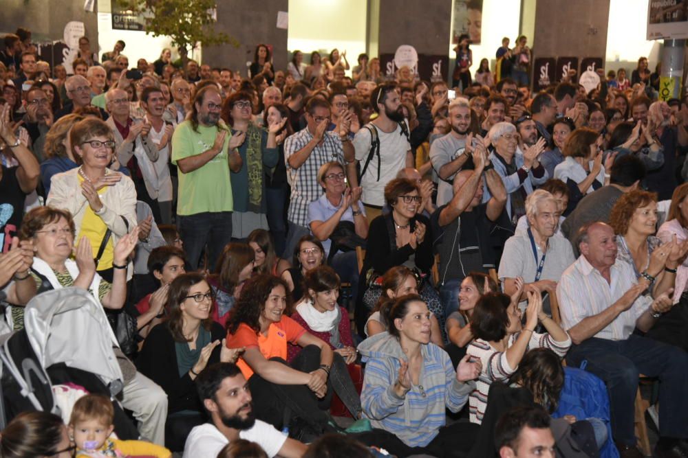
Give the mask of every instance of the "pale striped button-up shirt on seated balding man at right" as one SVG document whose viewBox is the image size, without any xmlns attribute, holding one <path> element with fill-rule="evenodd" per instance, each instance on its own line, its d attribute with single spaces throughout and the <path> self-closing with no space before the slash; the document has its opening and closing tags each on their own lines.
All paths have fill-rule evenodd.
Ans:
<svg viewBox="0 0 688 458">
<path fill-rule="evenodd" d="M 600 314 L 638 282 L 633 266 L 618 259 L 610 269 L 610 275 L 611 284 L 583 255 L 564 271 L 557 284 L 557 300 L 564 329 L 569 330 L 583 319 Z M 585 300 L 581 300 L 583 298 Z M 630 309 L 621 312 L 594 336 L 612 341 L 628 339 L 638 317 L 651 305 L 652 297 L 639 296 Z"/>
</svg>

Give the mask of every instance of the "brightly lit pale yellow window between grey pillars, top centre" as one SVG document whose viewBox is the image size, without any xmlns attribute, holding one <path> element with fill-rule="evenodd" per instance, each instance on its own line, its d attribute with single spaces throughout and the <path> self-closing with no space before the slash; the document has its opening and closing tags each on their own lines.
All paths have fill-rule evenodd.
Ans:
<svg viewBox="0 0 688 458">
<path fill-rule="evenodd" d="M 366 0 L 289 0 L 287 48 L 303 52 L 304 62 L 312 51 L 325 58 L 334 48 L 346 49 L 353 68 L 365 52 L 366 9 Z"/>
</svg>

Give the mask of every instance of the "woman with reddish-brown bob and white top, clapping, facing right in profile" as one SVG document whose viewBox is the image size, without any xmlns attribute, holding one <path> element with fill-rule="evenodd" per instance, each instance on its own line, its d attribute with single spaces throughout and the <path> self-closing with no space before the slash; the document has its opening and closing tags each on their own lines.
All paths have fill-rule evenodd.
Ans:
<svg viewBox="0 0 688 458">
<path fill-rule="evenodd" d="M 555 179 L 568 186 L 568 207 L 574 209 L 578 202 L 594 190 L 610 182 L 614 157 L 610 154 L 603 163 L 602 136 L 590 128 L 574 130 L 563 146 L 564 160 L 555 167 Z"/>
</svg>

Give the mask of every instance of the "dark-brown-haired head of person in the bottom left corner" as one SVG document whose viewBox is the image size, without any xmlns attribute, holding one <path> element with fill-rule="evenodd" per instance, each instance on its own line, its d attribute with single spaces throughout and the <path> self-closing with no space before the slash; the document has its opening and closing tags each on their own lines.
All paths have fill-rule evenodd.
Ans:
<svg viewBox="0 0 688 458">
<path fill-rule="evenodd" d="M 76 446 L 62 418 L 48 412 L 23 412 L 2 431 L 0 457 L 70 458 Z"/>
</svg>

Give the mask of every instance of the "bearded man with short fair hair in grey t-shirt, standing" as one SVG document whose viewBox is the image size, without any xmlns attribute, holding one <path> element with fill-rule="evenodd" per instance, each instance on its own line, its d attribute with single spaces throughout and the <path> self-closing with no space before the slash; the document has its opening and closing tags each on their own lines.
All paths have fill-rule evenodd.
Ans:
<svg viewBox="0 0 688 458">
<path fill-rule="evenodd" d="M 467 99 L 458 98 L 451 101 L 449 125 L 451 132 L 436 139 L 430 146 L 430 161 L 440 178 L 440 184 L 437 187 L 438 206 L 451 201 L 454 176 L 462 169 L 473 151 L 472 146 L 466 148 L 466 141 L 473 140 L 473 135 L 469 135 L 471 106 Z"/>
</svg>

